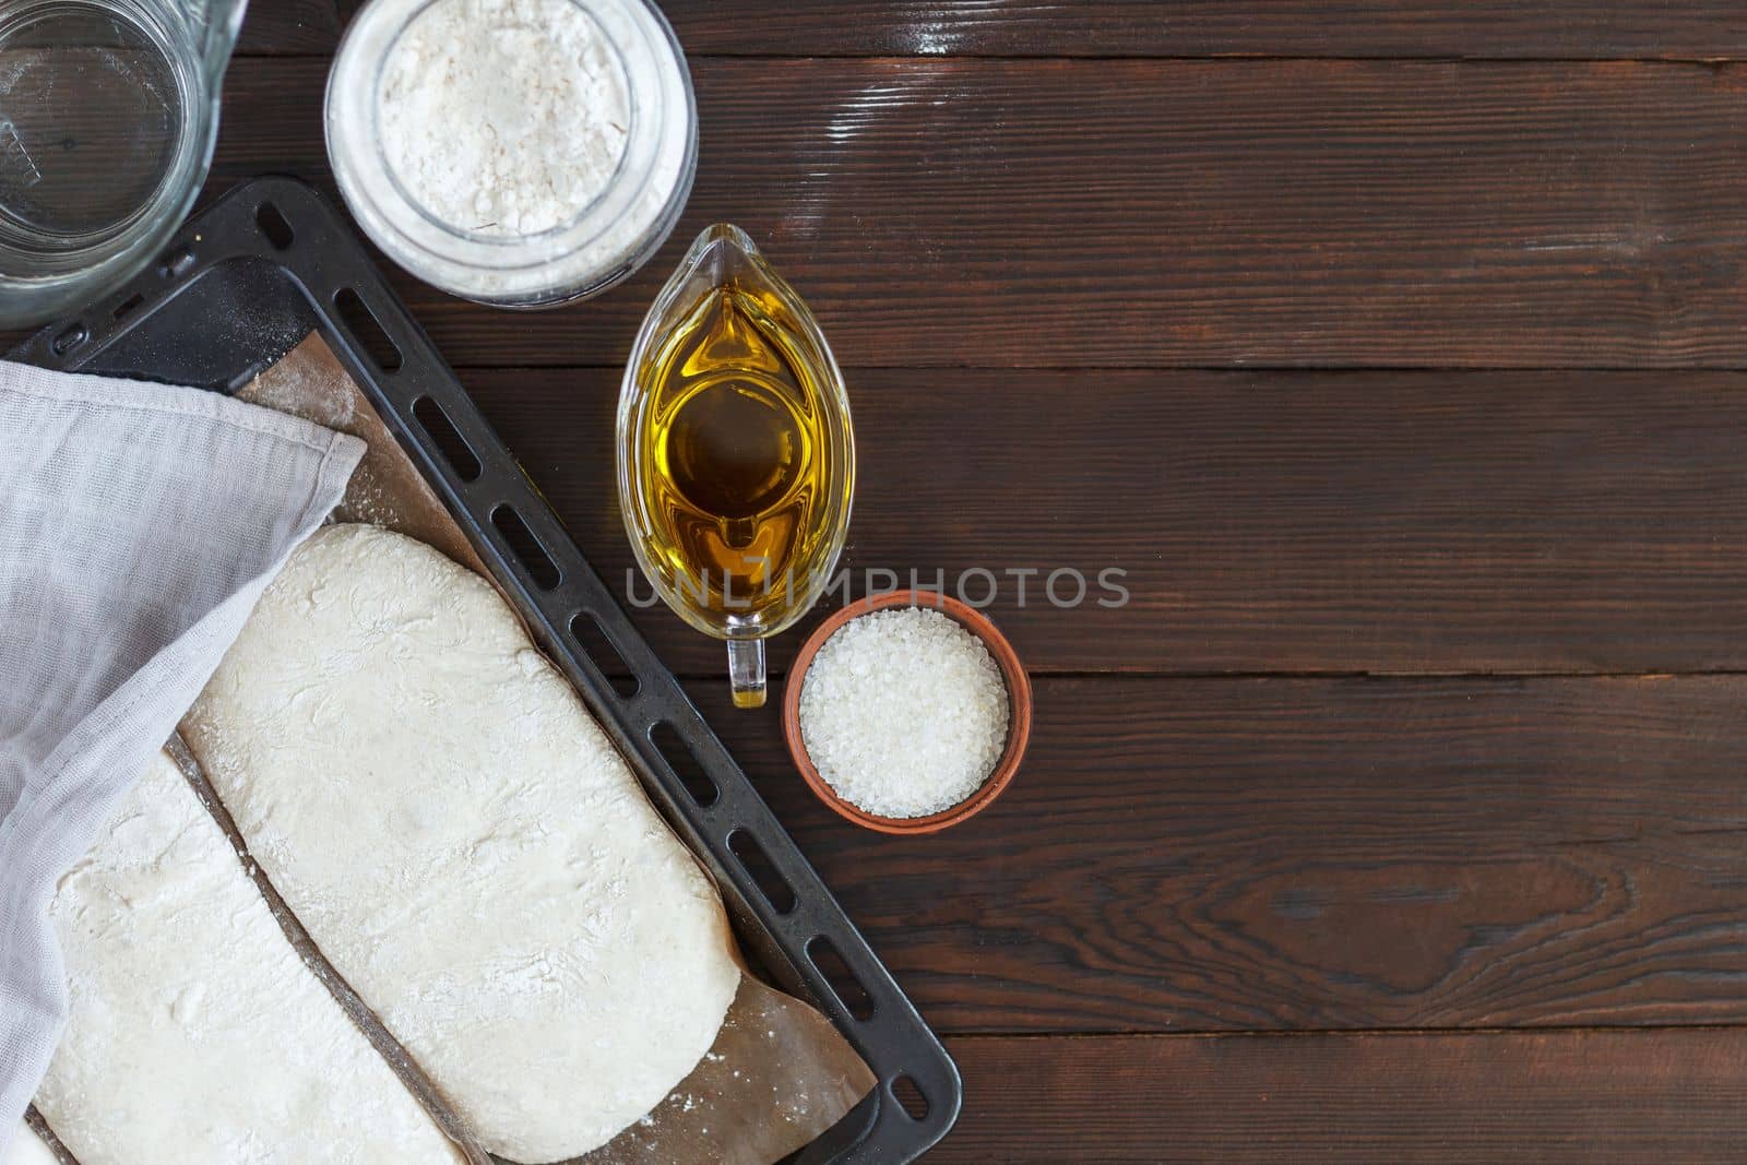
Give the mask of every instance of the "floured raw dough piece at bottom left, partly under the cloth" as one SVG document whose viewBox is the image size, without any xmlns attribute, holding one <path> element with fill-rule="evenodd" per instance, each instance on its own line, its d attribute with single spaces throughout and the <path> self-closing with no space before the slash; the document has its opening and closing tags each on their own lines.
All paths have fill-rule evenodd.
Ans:
<svg viewBox="0 0 1747 1165">
<path fill-rule="evenodd" d="M 49 917 L 72 1010 L 37 1111 L 80 1165 L 463 1160 L 162 753 Z"/>
</svg>

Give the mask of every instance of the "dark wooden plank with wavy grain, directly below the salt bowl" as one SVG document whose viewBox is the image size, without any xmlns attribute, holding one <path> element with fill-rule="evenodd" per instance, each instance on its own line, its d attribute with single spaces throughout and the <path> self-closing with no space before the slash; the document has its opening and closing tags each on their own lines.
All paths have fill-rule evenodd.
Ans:
<svg viewBox="0 0 1747 1165">
<path fill-rule="evenodd" d="M 688 685 L 950 1032 L 1747 1024 L 1747 678 L 1043 679 L 935 837 Z"/>
</svg>

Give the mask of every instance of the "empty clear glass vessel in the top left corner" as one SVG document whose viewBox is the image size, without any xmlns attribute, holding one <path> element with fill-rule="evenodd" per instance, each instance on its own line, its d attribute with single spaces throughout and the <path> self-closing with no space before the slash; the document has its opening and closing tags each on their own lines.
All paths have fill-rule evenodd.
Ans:
<svg viewBox="0 0 1747 1165">
<path fill-rule="evenodd" d="M 218 138 L 245 0 L 0 0 L 0 327 L 147 264 Z"/>
</svg>

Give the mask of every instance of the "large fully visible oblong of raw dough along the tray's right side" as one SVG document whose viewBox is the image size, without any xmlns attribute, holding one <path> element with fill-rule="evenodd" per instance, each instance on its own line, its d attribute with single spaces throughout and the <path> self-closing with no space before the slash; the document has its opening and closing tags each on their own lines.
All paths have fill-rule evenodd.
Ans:
<svg viewBox="0 0 1747 1165">
<path fill-rule="evenodd" d="M 715 1041 L 739 985 L 715 887 L 498 592 L 430 547 L 318 531 L 183 734 L 489 1151 L 594 1149 Z"/>
</svg>

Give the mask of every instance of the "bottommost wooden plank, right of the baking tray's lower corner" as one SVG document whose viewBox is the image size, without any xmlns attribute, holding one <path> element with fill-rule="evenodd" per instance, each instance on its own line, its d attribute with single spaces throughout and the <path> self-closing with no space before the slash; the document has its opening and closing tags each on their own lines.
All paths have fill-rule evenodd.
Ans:
<svg viewBox="0 0 1747 1165">
<path fill-rule="evenodd" d="M 1747 1032 L 954 1039 L 929 1165 L 1737 1162 Z"/>
</svg>

